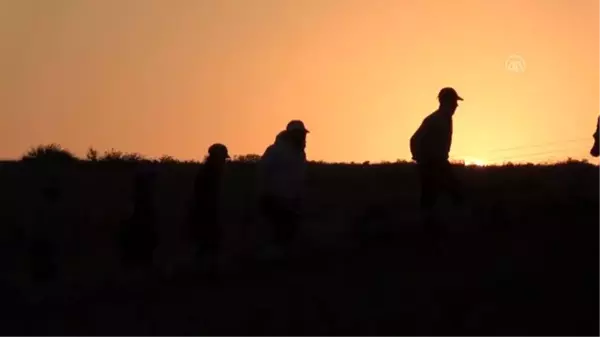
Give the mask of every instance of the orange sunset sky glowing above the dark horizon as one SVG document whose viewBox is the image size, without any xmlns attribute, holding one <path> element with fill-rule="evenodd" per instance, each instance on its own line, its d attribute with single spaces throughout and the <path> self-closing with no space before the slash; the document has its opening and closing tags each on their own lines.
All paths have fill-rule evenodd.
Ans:
<svg viewBox="0 0 600 337">
<path fill-rule="evenodd" d="M 309 159 L 407 159 L 453 86 L 452 157 L 586 158 L 599 17 L 597 0 L 0 0 L 0 157 L 260 154 L 298 118 Z"/>
</svg>

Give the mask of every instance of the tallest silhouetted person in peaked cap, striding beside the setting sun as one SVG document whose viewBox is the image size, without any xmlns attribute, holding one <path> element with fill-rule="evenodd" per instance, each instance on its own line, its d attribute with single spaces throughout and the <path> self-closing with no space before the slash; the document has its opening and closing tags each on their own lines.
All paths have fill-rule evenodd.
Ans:
<svg viewBox="0 0 600 337">
<path fill-rule="evenodd" d="M 443 88 L 438 94 L 438 109 L 427 116 L 410 138 L 412 159 L 416 161 L 421 183 L 420 205 L 430 211 L 442 191 L 449 192 L 455 203 L 462 202 L 449 162 L 452 146 L 452 117 L 462 101 L 453 88 Z"/>
</svg>

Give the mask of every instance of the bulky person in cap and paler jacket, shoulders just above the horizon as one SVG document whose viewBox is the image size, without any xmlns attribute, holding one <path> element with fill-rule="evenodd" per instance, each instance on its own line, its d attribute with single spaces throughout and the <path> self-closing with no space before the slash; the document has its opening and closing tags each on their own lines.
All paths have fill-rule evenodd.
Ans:
<svg viewBox="0 0 600 337">
<path fill-rule="evenodd" d="M 273 233 L 275 249 L 285 253 L 294 239 L 304 194 L 306 135 L 292 120 L 262 155 L 259 166 L 260 213 Z"/>
</svg>

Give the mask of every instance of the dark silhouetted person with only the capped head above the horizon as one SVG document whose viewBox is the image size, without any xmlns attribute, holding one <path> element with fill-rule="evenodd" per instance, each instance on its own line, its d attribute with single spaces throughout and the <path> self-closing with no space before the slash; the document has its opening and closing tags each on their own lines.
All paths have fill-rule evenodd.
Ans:
<svg viewBox="0 0 600 337">
<path fill-rule="evenodd" d="M 227 147 L 219 143 L 213 144 L 196 175 L 190 232 L 196 245 L 198 262 L 215 262 L 221 248 L 219 210 L 223 173 L 228 159 L 230 156 Z"/>
</svg>

